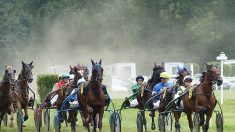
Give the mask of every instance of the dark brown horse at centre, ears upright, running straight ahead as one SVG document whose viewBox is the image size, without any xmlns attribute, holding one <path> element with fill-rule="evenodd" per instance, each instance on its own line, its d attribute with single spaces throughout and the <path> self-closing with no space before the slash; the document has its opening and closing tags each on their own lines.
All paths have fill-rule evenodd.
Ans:
<svg viewBox="0 0 235 132">
<path fill-rule="evenodd" d="M 105 107 L 105 95 L 102 90 L 102 80 L 103 80 L 103 68 L 101 67 L 101 60 L 99 63 L 95 63 L 91 59 L 92 63 L 92 75 L 90 81 L 86 85 L 86 89 L 88 90 L 85 95 L 85 113 L 83 116 L 85 118 L 85 125 L 88 127 L 88 124 L 93 123 L 93 131 L 96 132 L 97 123 L 99 131 L 102 131 L 102 119 L 104 114 Z M 84 98 L 83 98 L 84 99 Z M 84 103 L 84 102 L 83 102 Z M 86 115 L 84 115 L 86 114 Z M 98 122 L 97 122 L 98 115 Z M 86 117 L 85 117 L 86 116 Z"/>
</svg>

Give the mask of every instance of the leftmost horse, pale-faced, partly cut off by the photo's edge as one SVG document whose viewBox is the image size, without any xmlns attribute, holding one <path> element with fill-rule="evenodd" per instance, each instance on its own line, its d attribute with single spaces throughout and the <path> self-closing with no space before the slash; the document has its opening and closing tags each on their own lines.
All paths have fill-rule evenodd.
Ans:
<svg viewBox="0 0 235 132">
<path fill-rule="evenodd" d="M 11 115 L 10 127 L 13 127 L 13 100 L 12 91 L 14 89 L 16 70 L 12 66 L 5 66 L 5 74 L 0 82 L 0 122 L 4 114 L 7 112 Z M 0 123 L 1 124 L 1 123 Z"/>
</svg>

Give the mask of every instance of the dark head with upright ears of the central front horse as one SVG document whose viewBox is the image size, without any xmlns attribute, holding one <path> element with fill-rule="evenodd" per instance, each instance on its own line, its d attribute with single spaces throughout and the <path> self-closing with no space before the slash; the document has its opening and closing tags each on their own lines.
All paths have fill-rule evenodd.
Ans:
<svg viewBox="0 0 235 132">
<path fill-rule="evenodd" d="M 103 80 L 103 68 L 101 67 L 101 60 L 99 61 L 99 63 L 97 62 L 95 63 L 91 59 L 91 63 L 92 63 L 91 80 L 101 83 Z"/>
</svg>

